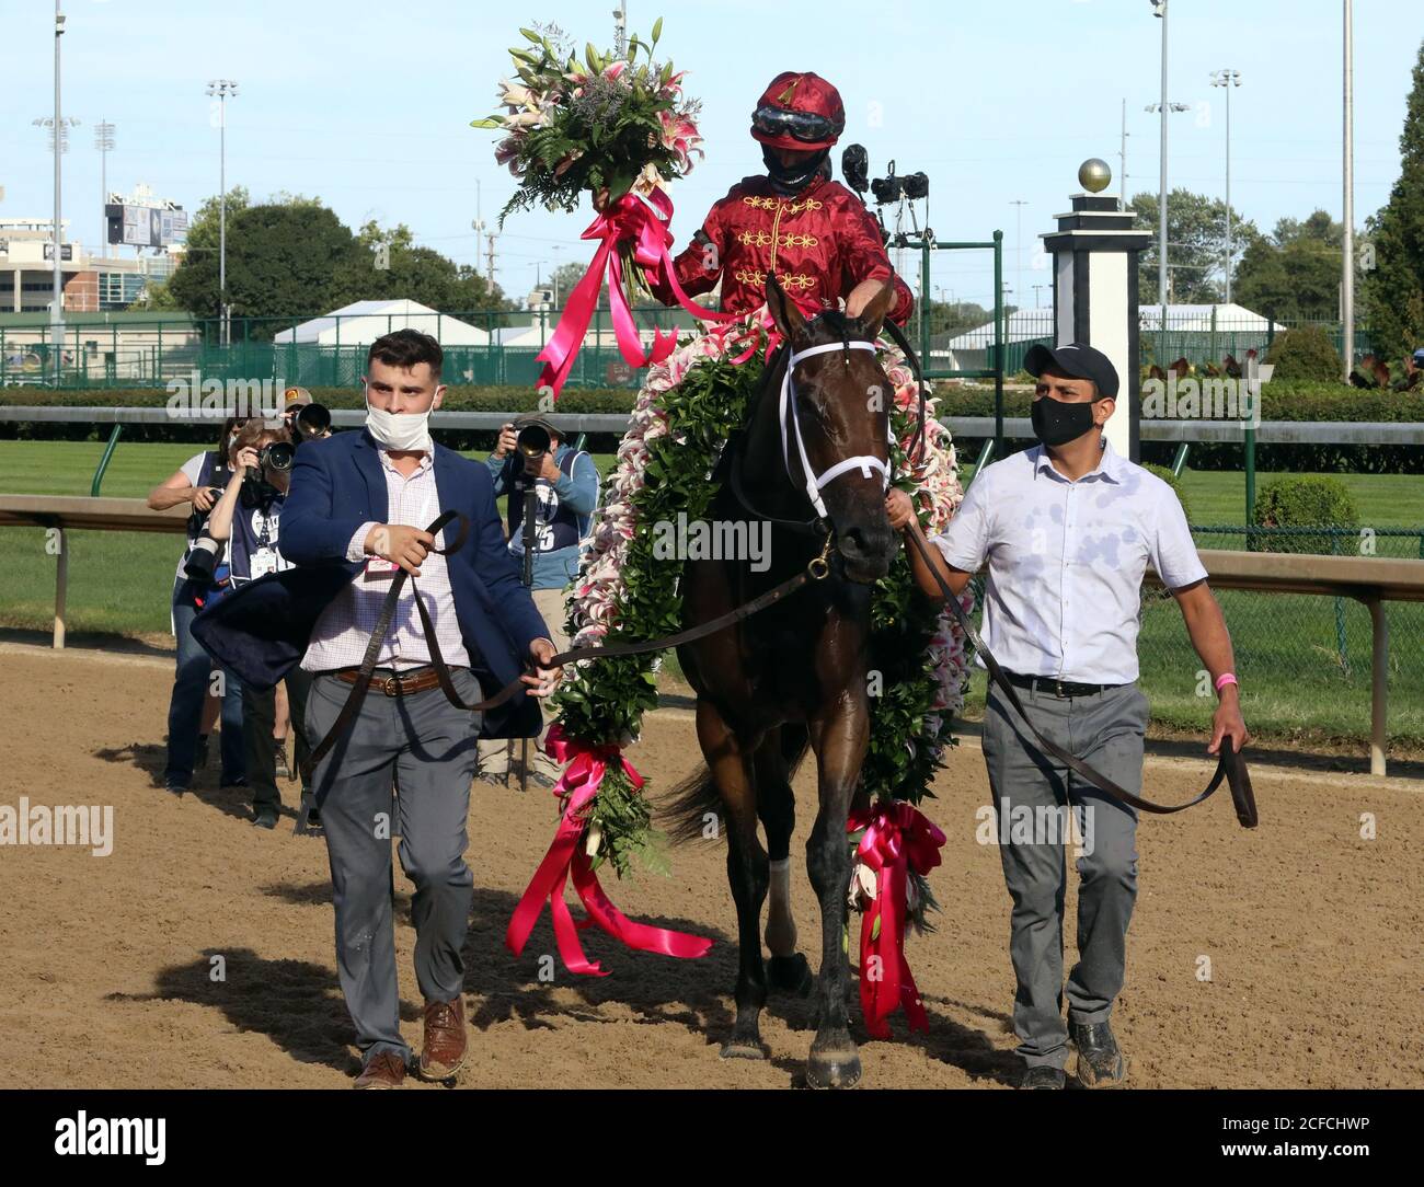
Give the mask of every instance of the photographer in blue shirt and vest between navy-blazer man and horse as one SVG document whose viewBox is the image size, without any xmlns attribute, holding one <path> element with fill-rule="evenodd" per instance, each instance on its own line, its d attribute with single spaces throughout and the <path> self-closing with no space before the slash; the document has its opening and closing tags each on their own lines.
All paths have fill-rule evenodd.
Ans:
<svg viewBox="0 0 1424 1187">
<path fill-rule="evenodd" d="M 534 605 L 548 625 L 554 649 L 567 650 L 565 589 L 578 575 L 578 554 L 592 528 L 592 512 L 598 505 L 598 467 L 587 453 L 564 444 L 560 431 L 537 416 L 523 416 L 503 426 L 498 444 L 486 465 L 494 478 L 496 497 L 508 495 L 506 522 L 510 554 L 521 572 L 530 574 Z M 535 547 L 531 564 L 525 566 L 524 495 L 531 488 L 537 500 Z M 480 779 L 503 784 L 508 771 L 510 743 L 481 740 Z M 544 753 L 541 744 L 537 747 L 533 774 L 545 787 L 553 787 L 560 774 L 558 763 Z"/>
</svg>

